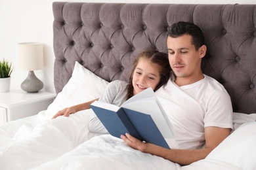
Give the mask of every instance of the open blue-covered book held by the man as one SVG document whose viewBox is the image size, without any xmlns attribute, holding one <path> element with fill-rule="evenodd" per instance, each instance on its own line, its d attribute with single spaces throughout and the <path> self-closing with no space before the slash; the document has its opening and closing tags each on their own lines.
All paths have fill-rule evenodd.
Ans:
<svg viewBox="0 0 256 170">
<path fill-rule="evenodd" d="M 121 107 L 95 101 L 91 109 L 110 135 L 120 137 L 129 133 L 140 141 L 170 148 L 165 139 L 173 138 L 171 122 L 152 88 L 134 95 Z"/>
</svg>

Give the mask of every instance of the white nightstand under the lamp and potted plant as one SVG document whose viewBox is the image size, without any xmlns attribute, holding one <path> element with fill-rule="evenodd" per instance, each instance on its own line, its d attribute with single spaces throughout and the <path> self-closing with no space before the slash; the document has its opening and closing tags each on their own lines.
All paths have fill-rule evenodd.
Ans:
<svg viewBox="0 0 256 170">
<path fill-rule="evenodd" d="M 46 110 L 55 97 L 55 93 L 41 91 L 27 93 L 22 90 L 11 90 L 0 93 L 0 124 Z"/>
</svg>

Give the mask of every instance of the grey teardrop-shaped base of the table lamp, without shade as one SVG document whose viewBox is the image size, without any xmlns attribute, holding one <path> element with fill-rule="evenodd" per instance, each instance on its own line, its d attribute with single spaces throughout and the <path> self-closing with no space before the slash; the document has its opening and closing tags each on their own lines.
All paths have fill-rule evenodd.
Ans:
<svg viewBox="0 0 256 170">
<path fill-rule="evenodd" d="M 33 71 L 30 71 L 20 87 L 28 93 L 37 93 L 43 88 L 43 82 L 35 76 Z"/>
</svg>

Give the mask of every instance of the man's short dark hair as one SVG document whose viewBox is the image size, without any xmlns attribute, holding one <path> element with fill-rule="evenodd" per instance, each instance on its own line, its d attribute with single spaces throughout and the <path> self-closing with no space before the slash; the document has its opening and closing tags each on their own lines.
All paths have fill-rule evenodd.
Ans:
<svg viewBox="0 0 256 170">
<path fill-rule="evenodd" d="M 168 37 L 181 37 L 182 35 L 191 35 L 192 44 L 194 44 L 196 50 L 198 50 L 204 44 L 204 37 L 202 30 L 198 25 L 191 22 L 176 22 L 167 29 L 167 38 Z"/>
</svg>

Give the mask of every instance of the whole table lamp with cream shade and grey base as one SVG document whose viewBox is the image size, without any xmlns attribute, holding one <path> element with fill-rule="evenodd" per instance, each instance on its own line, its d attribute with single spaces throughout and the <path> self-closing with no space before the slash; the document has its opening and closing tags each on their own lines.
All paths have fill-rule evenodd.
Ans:
<svg viewBox="0 0 256 170">
<path fill-rule="evenodd" d="M 20 87 L 28 93 L 38 92 L 43 88 L 43 82 L 39 80 L 34 70 L 43 69 L 43 44 L 39 42 L 18 43 L 19 68 L 29 71 L 28 77 Z"/>
</svg>

